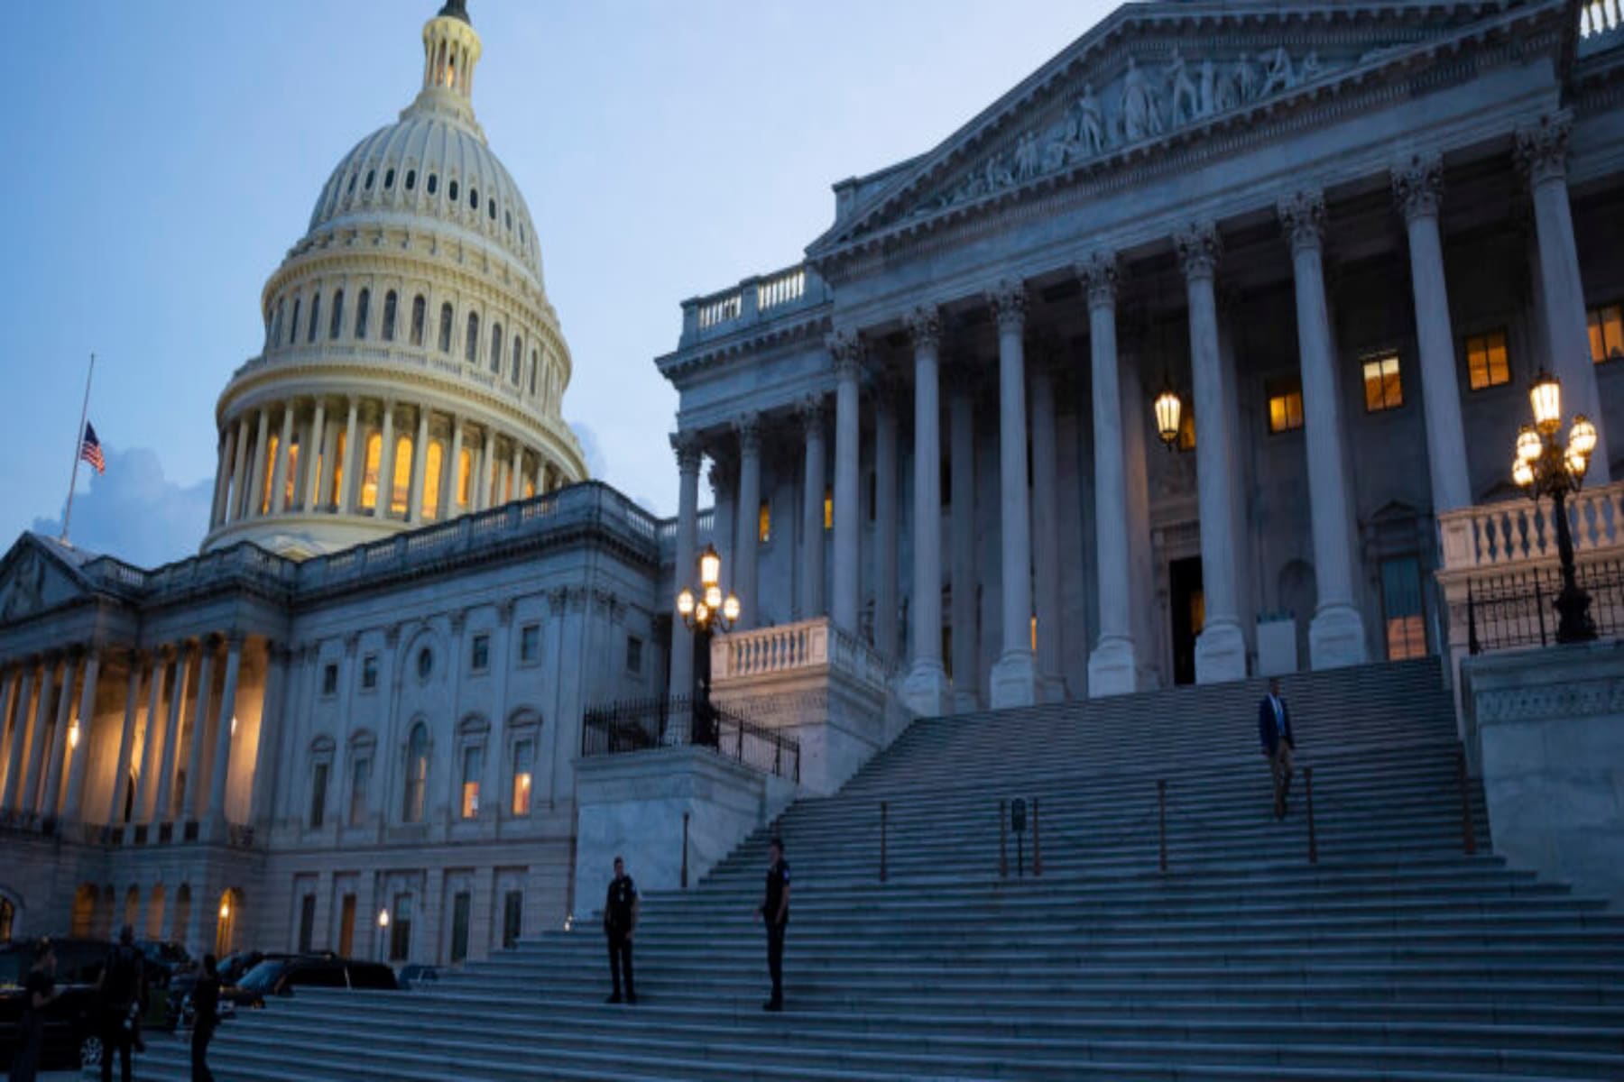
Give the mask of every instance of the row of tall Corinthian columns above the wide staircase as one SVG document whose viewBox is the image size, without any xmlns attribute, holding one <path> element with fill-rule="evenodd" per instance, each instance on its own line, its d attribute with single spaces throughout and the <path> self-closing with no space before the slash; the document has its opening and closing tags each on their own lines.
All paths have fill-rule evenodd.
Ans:
<svg viewBox="0 0 1624 1082">
<path fill-rule="evenodd" d="M 1579 258 L 1566 190 L 1566 115 L 1548 117 L 1518 131 L 1518 161 L 1533 193 L 1541 303 L 1549 336 L 1549 355 L 1564 388 L 1570 389 L 1575 412 L 1600 423 L 1595 370 L 1585 342 L 1583 294 Z M 1405 222 L 1415 290 L 1416 339 L 1419 346 L 1421 393 L 1427 430 L 1427 467 L 1434 511 L 1450 511 L 1471 503 L 1466 475 L 1465 428 L 1460 410 L 1455 344 L 1449 318 L 1444 277 L 1439 203 L 1442 161 L 1415 156 L 1397 164 L 1390 175 L 1395 204 Z M 1312 550 L 1319 603 L 1309 626 L 1311 665 L 1350 665 L 1366 659 L 1364 623 L 1358 607 L 1358 556 L 1353 521 L 1353 493 L 1343 456 L 1343 406 L 1338 391 L 1337 350 L 1325 295 L 1324 229 L 1325 198 L 1320 190 L 1291 191 L 1275 206 L 1289 248 L 1296 297 L 1298 352 L 1302 381 L 1304 438 L 1312 505 Z M 1233 362 L 1223 347 L 1215 282 L 1223 256 L 1221 234 L 1215 222 L 1202 221 L 1179 230 L 1174 251 L 1186 281 L 1189 310 L 1194 414 L 1207 423 L 1197 441 L 1197 500 L 1200 516 L 1202 584 L 1205 626 L 1197 639 L 1197 681 L 1239 680 L 1246 675 L 1247 642 L 1241 623 L 1242 501 L 1236 490 L 1237 420 Z M 1138 649 L 1134 613 L 1150 603 L 1134 595 L 1129 508 L 1127 443 L 1124 410 L 1148 409 L 1138 401 L 1138 380 L 1122 380 L 1125 360 L 1117 350 L 1116 294 L 1117 258 L 1091 251 L 1075 268 L 1088 302 L 1090 360 L 1093 381 L 1095 432 L 1095 545 L 1098 563 L 1099 628 L 1090 652 L 1091 694 L 1132 691 L 1138 676 Z M 999 282 L 986 294 L 997 326 L 999 347 L 999 479 L 1000 479 L 1000 597 L 1002 634 L 989 680 L 994 707 L 1021 706 L 1041 698 L 1059 698 L 1060 626 L 1059 537 L 1056 480 L 1054 391 L 1047 371 L 1026 371 L 1025 329 L 1026 292 L 1021 282 Z M 940 316 L 934 307 L 908 311 L 903 324 L 913 344 L 914 406 L 914 508 L 913 508 L 913 603 L 909 610 L 908 670 L 903 698 L 922 714 L 950 709 L 940 633 Z M 836 373 L 835 404 L 835 576 L 830 613 L 836 626 L 856 631 L 857 613 L 857 373 L 861 337 L 849 331 L 828 337 Z M 1129 394 L 1132 389 L 1132 394 Z M 1028 419 L 1028 391 L 1031 417 Z M 820 608 L 822 560 L 822 407 L 807 410 L 806 521 L 802 610 Z M 1210 420 L 1208 420 L 1210 419 Z M 968 394 L 950 402 L 953 477 L 953 626 L 974 628 L 974 415 Z M 724 508 L 737 508 L 732 539 L 732 571 L 741 597 L 744 626 L 755 615 L 757 524 L 760 500 L 760 420 L 750 415 L 736 425 L 739 433 L 737 503 L 724 496 L 726 470 L 718 482 L 718 530 Z M 895 647 L 895 412 L 887 394 L 875 406 L 877 545 L 875 644 L 890 654 Z M 1026 479 L 1028 440 L 1031 441 L 1031 485 Z M 1603 435 L 1603 446 L 1605 435 Z M 679 501 L 679 539 L 692 532 L 697 513 L 698 451 L 684 472 Z M 1606 480 L 1606 456 L 1592 467 Z M 1038 514 L 1028 506 L 1036 503 Z M 890 524 L 890 532 L 885 532 Z M 687 553 L 687 560 L 684 555 Z M 679 545 L 679 568 L 692 563 Z M 1036 590 L 1033 589 L 1036 579 Z M 1033 602 L 1036 600 L 1036 612 Z M 1036 616 L 1036 652 L 1028 631 Z M 958 709 L 974 706 L 976 646 L 973 636 L 955 636 L 953 670 Z M 690 672 L 685 678 L 690 678 Z M 672 672 L 672 688 L 677 688 Z M 684 685 L 687 686 L 687 685 Z M 970 696 L 965 693 L 971 691 Z"/>
</svg>

